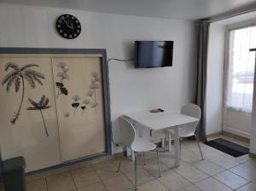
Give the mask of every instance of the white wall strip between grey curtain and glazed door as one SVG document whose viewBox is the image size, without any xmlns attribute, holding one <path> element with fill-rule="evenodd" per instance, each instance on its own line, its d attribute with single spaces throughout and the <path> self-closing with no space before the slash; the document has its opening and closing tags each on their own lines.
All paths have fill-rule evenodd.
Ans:
<svg viewBox="0 0 256 191">
<path fill-rule="evenodd" d="M 224 26 L 212 23 L 207 58 L 207 135 L 222 130 Z"/>
</svg>

